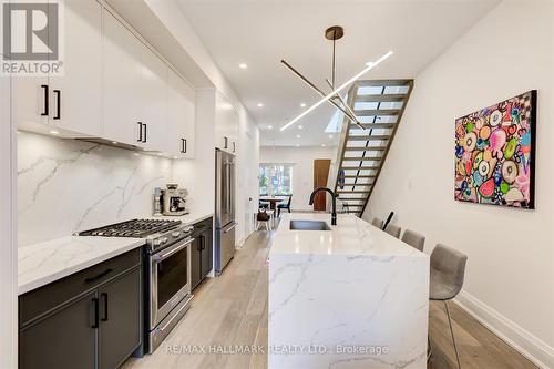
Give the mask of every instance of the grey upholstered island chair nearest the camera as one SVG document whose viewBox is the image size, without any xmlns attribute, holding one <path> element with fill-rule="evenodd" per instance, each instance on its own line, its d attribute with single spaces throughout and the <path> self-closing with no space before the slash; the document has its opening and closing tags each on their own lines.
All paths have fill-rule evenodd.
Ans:
<svg viewBox="0 0 554 369">
<path fill-rule="evenodd" d="M 466 262 L 468 256 L 442 244 L 438 244 L 431 253 L 429 299 L 444 301 L 459 369 L 462 366 L 460 365 L 460 355 L 455 344 L 454 330 L 452 329 L 452 318 L 450 317 L 448 301 L 456 297 L 460 290 L 462 290 Z M 429 340 L 429 345 L 431 346 L 431 340 Z M 431 347 L 430 352 L 432 352 Z"/>
</svg>

